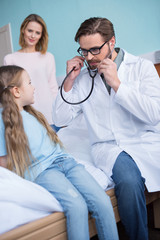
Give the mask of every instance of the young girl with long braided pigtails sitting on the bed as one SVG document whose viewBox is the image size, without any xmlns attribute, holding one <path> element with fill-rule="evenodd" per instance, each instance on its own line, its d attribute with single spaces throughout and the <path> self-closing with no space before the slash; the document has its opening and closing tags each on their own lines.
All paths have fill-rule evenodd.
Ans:
<svg viewBox="0 0 160 240">
<path fill-rule="evenodd" d="M 43 115 L 30 104 L 34 87 L 18 66 L 0 67 L 0 165 L 46 188 L 67 219 L 70 240 L 88 240 L 88 211 L 100 240 L 117 240 L 109 197 L 80 164 L 65 152 Z"/>
</svg>

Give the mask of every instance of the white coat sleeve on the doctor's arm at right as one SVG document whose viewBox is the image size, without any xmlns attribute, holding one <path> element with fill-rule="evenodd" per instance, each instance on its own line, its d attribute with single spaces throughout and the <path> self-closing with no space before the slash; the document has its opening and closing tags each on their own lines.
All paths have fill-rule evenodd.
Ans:
<svg viewBox="0 0 160 240">
<path fill-rule="evenodd" d="M 160 80 L 150 61 L 142 60 L 133 84 L 120 84 L 115 101 L 147 124 L 156 125 L 160 121 Z"/>
</svg>

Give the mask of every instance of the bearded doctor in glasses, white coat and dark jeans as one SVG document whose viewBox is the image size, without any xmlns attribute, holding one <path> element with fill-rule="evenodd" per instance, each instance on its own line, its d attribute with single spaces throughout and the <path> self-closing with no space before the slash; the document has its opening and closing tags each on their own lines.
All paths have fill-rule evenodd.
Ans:
<svg viewBox="0 0 160 240">
<path fill-rule="evenodd" d="M 160 80 L 154 65 L 115 48 L 113 24 L 105 18 L 85 20 L 75 41 L 76 56 L 67 62 L 63 95 L 84 99 L 91 87 L 86 61 L 98 69 L 90 98 L 69 105 L 58 95 L 53 107 L 57 126 L 84 113 L 95 165 L 115 184 L 119 214 L 130 240 L 147 240 L 145 187 L 160 190 Z"/>
</svg>

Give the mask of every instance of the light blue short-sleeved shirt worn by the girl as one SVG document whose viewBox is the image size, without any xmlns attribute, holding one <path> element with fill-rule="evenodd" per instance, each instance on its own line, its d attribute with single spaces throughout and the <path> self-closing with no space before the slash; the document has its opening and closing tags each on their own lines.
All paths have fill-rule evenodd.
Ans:
<svg viewBox="0 0 160 240">
<path fill-rule="evenodd" d="M 34 157 L 29 166 L 29 172 L 27 170 L 25 172 L 25 179 L 34 181 L 56 159 L 70 157 L 70 155 L 59 144 L 51 141 L 46 128 L 34 116 L 25 110 L 21 111 L 21 115 L 24 131 L 28 137 L 29 147 Z M 5 127 L 2 119 L 2 109 L 0 109 L 0 156 L 5 155 L 7 155 Z"/>
</svg>

